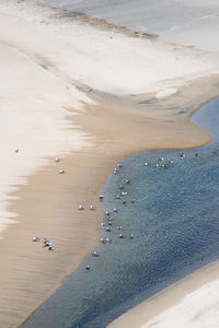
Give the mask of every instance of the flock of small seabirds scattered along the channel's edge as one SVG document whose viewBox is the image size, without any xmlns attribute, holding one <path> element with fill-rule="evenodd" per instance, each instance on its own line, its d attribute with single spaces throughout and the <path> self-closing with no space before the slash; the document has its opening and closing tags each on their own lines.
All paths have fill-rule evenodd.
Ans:
<svg viewBox="0 0 219 328">
<path fill-rule="evenodd" d="M 19 152 L 19 149 L 16 149 L 15 152 Z M 198 156 L 198 154 L 196 153 L 195 156 Z M 184 153 L 184 151 L 181 151 L 181 152 L 180 152 L 180 157 L 181 157 L 182 160 L 185 159 L 185 153 Z M 60 157 L 56 157 L 56 159 L 55 159 L 55 162 L 56 162 L 56 163 L 61 162 L 61 159 L 60 159 Z M 170 160 L 169 162 L 164 163 L 164 159 L 163 159 L 163 157 L 160 157 L 160 159 L 159 159 L 159 162 L 160 162 L 160 163 L 157 163 L 157 164 L 155 164 L 155 167 L 164 167 L 164 168 L 168 168 L 168 167 L 173 163 L 172 160 Z M 148 166 L 148 163 L 146 162 L 143 165 L 145 165 L 145 166 Z M 122 163 L 118 163 L 117 166 L 114 168 L 113 173 L 114 173 L 115 175 L 119 174 L 119 171 L 120 171 L 122 167 L 123 167 L 123 164 L 122 164 Z M 65 169 L 64 169 L 64 168 L 60 168 L 60 169 L 59 169 L 59 174 L 64 174 L 64 173 L 65 173 Z M 125 184 L 126 184 L 126 185 L 130 184 L 130 180 L 129 180 L 129 179 L 126 179 L 126 180 L 125 180 Z M 119 194 L 116 195 L 116 199 L 117 199 L 117 200 L 120 200 L 123 204 L 126 203 L 126 200 L 124 199 L 124 196 L 126 196 L 126 195 L 128 194 L 128 192 L 125 191 L 124 189 L 125 189 L 125 185 L 120 185 L 120 186 L 119 186 Z M 104 195 L 102 195 L 102 194 L 99 196 L 99 200 L 100 200 L 100 201 L 103 201 L 104 198 L 105 198 L 105 197 L 104 197 Z M 130 201 L 131 201 L 131 202 L 135 202 L 136 200 L 135 200 L 135 199 L 131 199 Z M 96 207 L 93 206 L 93 204 L 91 204 L 89 209 L 90 209 L 91 211 L 94 211 L 94 210 L 96 209 Z M 78 210 L 79 210 L 79 211 L 82 211 L 82 210 L 84 210 L 84 207 L 83 207 L 82 204 L 79 204 Z M 107 221 L 107 222 L 104 222 L 104 221 L 103 221 L 103 222 L 101 223 L 102 226 L 105 226 L 105 231 L 108 232 L 108 233 L 111 232 L 111 227 L 112 227 L 112 225 L 113 225 L 113 222 L 112 222 L 112 221 L 113 221 L 113 216 L 112 216 L 112 215 L 115 214 L 115 213 L 117 213 L 117 209 L 116 209 L 116 208 L 114 208 L 112 212 L 105 211 L 105 216 L 104 216 L 105 220 L 104 220 L 104 221 Z M 123 226 L 117 226 L 116 229 L 117 229 L 118 231 L 122 231 L 122 230 L 123 230 Z M 124 238 L 123 233 L 119 233 L 119 234 L 118 234 L 118 238 L 120 238 L 120 239 Z M 134 234 L 130 234 L 129 238 L 130 238 L 130 239 L 134 239 Z M 41 237 L 38 237 L 38 236 L 33 237 L 33 242 L 39 242 L 39 241 L 41 241 Z M 111 241 L 108 237 L 106 237 L 106 238 L 102 237 L 100 242 L 101 242 L 102 244 L 106 244 L 106 243 L 111 243 L 112 241 Z M 48 238 L 44 238 L 44 239 L 43 239 L 43 247 L 46 247 L 48 250 L 55 250 L 55 246 L 53 245 L 53 243 L 51 243 Z M 94 257 L 99 257 L 100 254 L 97 254 L 97 253 L 94 250 L 94 251 L 93 251 L 93 256 L 94 256 Z M 90 270 L 91 267 L 88 265 L 88 266 L 85 267 L 85 269 L 87 269 L 87 270 Z"/>
</svg>

